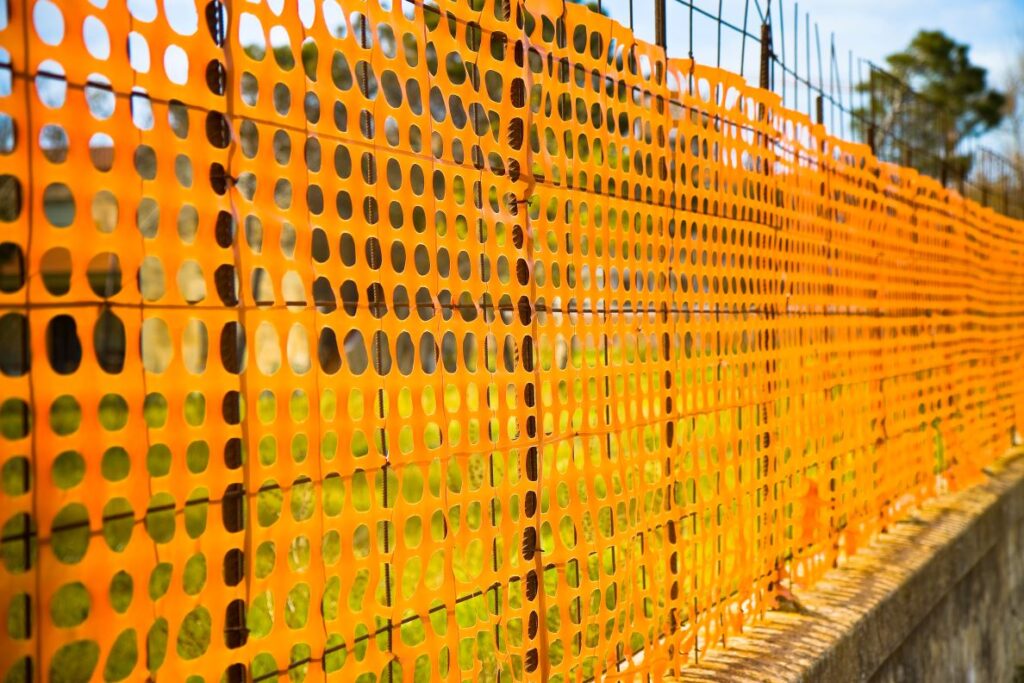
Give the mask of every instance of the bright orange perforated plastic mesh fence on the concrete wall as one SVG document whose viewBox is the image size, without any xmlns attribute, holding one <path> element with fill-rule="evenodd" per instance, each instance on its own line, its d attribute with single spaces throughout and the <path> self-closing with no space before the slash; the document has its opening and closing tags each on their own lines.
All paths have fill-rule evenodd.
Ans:
<svg viewBox="0 0 1024 683">
<path fill-rule="evenodd" d="M 1021 223 L 584 7 L 6 4 L 4 681 L 656 679 L 1021 426 Z"/>
</svg>

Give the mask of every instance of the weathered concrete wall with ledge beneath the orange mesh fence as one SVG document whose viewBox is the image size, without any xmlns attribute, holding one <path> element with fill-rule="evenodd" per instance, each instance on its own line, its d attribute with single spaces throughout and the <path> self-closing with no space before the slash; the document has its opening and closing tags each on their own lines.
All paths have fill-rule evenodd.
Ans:
<svg viewBox="0 0 1024 683">
<path fill-rule="evenodd" d="M 1024 655 L 1021 456 L 798 593 L 806 613 L 771 612 L 678 680 L 1011 680 Z"/>
</svg>

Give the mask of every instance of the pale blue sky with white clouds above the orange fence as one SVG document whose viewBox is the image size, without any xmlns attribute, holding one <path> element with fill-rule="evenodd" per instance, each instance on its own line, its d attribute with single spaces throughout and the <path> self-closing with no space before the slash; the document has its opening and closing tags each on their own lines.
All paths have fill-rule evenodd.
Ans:
<svg viewBox="0 0 1024 683">
<path fill-rule="evenodd" d="M 84 0 L 80 0 L 84 1 Z M 94 2 L 97 0 L 93 0 Z M 104 0 L 105 1 L 105 0 Z M 155 16 L 158 3 L 168 13 L 172 24 L 183 34 L 196 30 L 198 0 L 117 0 L 127 2 L 134 14 Z M 281 9 L 285 0 L 266 0 Z M 335 6 L 336 0 L 325 5 Z M 622 24 L 629 26 L 630 0 L 601 0 L 605 11 Z M 647 41 L 654 40 L 654 0 L 632 0 L 634 30 Z M 686 56 L 690 49 L 689 8 L 681 0 L 667 0 L 669 54 Z M 862 68 L 859 58 L 884 63 L 885 56 L 904 47 L 921 29 L 938 29 L 971 46 L 971 56 L 989 71 L 989 83 L 999 87 L 1010 65 L 1024 52 L 1024 0 L 693 0 L 694 5 L 712 16 L 721 5 L 723 18 L 735 26 L 743 26 L 746 12 L 746 30 L 760 33 L 761 12 L 771 5 L 776 53 L 783 53 L 792 68 L 794 62 L 802 78 L 808 77 L 808 24 L 810 15 L 811 65 L 810 80 L 819 80 L 817 40 L 820 40 L 824 58 L 821 73 L 825 90 L 835 88 L 835 95 L 849 104 L 849 84 L 860 80 Z M 319 5 L 321 0 L 298 0 L 298 6 Z M 37 3 L 45 4 L 45 3 Z M 100 3 L 102 4 L 102 3 Z M 291 4 L 291 3 L 289 3 Z M 0 7 L 3 6 L 0 0 Z M 244 5 L 243 5 L 244 6 Z M 795 10 L 799 8 L 799 16 Z M 779 16 L 783 20 L 779 22 Z M 756 80 L 758 74 L 758 46 L 745 41 L 739 34 L 722 28 L 721 50 L 718 49 L 718 27 L 714 18 L 693 12 L 692 49 L 695 58 L 709 65 L 719 62 L 723 68 L 741 72 Z M 242 27 L 243 29 L 245 27 Z M 795 31 L 795 29 L 799 29 Z M 784 35 L 783 35 L 784 32 Z M 243 34 L 245 31 L 243 30 Z M 829 74 L 828 54 L 835 35 L 837 68 Z M 273 36 L 271 36 L 271 42 Z M 745 49 L 744 49 L 745 47 Z M 850 60 L 850 51 L 853 61 Z M 745 58 L 740 63 L 740 54 Z M 171 59 L 171 62 L 174 60 Z M 182 59 L 183 61 L 183 59 Z M 170 66 L 173 66 L 171 63 Z M 851 69 L 852 67 L 852 69 Z M 795 86 L 793 79 L 783 85 L 781 74 L 776 73 L 775 90 L 785 95 L 785 103 L 807 111 L 806 88 Z M 831 84 L 829 83 L 831 82 Z M 785 92 L 783 93 L 783 89 Z M 826 122 L 839 124 L 826 119 Z M 841 134 L 839 125 L 835 126 Z"/>
</svg>

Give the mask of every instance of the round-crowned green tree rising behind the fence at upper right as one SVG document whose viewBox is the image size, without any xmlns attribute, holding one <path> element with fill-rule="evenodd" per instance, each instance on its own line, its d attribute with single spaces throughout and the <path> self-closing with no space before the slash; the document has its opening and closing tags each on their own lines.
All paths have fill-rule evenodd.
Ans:
<svg viewBox="0 0 1024 683">
<path fill-rule="evenodd" d="M 941 31 L 921 31 L 886 57 L 888 72 L 872 67 L 858 86 L 868 95 L 858 114 L 873 127 L 877 147 L 897 150 L 896 161 L 943 180 L 967 176 L 971 158 L 957 154 L 961 143 L 999 125 L 1007 101 L 969 53 Z"/>
</svg>

